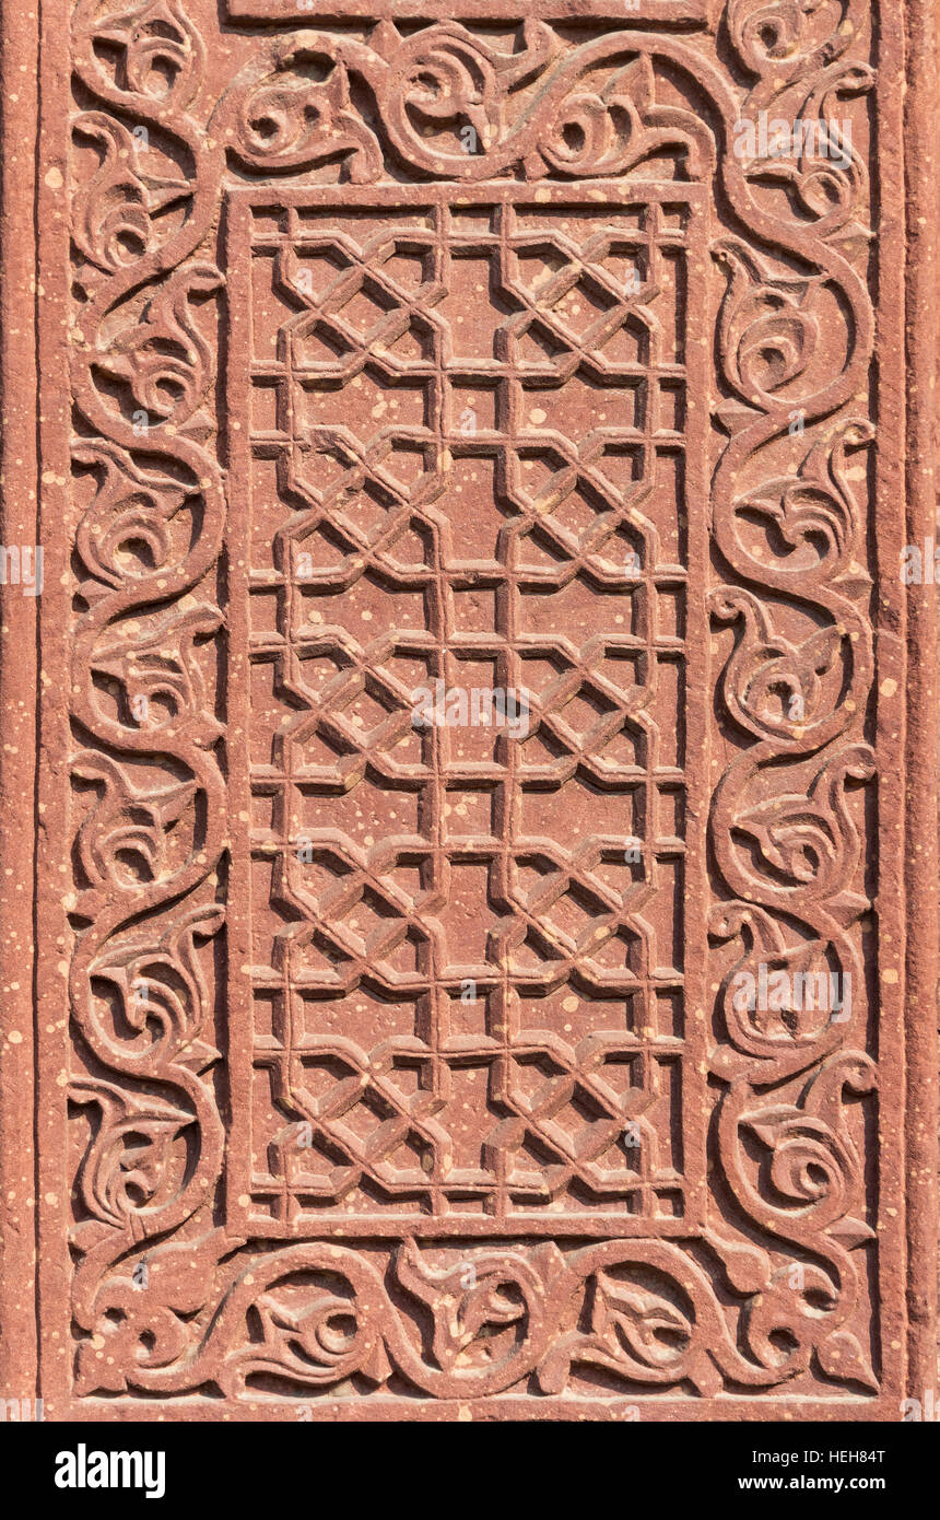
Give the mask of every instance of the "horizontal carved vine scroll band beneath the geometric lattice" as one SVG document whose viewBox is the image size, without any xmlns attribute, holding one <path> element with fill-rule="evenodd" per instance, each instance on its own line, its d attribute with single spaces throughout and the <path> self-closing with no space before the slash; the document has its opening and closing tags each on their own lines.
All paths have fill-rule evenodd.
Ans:
<svg viewBox="0 0 940 1520">
<path fill-rule="evenodd" d="M 535 1373 L 542 1394 L 559 1394 L 580 1363 L 712 1395 L 723 1379 L 758 1388 L 809 1360 L 799 1345 L 765 1365 L 778 1287 L 770 1257 L 753 1246 L 714 1242 L 735 1290 L 774 1306 L 752 1316 L 746 1356 L 705 1271 L 665 1242 L 610 1240 L 568 1257 L 554 1243 L 471 1249 L 456 1265 L 433 1265 L 405 1242 L 381 1269 L 348 1246 L 298 1245 L 240 1256 L 213 1281 L 220 1245 L 207 1236 L 153 1249 L 147 1295 L 126 1278 L 109 1281 L 97 1307 L 120 1313 L 120 1328 L 108 1341 L 109 1362 L 94 1342 L 80 1347 L 80 1391 L 176 1394 L 211 1382 L 238 1398 L 263 1377 L 299 1391 L 355 1377 L 363 1392 L 404 1377 L 431 1397 L 465 1398 L 500 1394 Z M 825 1287 L 822 1272 L 809 1277 Z M 847 1357 L 844 1374 L 856 1373 Z"/>
</svg>

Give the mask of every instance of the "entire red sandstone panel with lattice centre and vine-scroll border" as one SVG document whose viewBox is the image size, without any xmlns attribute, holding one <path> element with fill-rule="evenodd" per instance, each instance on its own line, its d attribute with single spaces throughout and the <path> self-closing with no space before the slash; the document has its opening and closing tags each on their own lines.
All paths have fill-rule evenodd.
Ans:
<svg viewBox="0 0 940 1520">
<path fill-rule="evenodd" d="M 897 1418 L 881 5 L 56 9 L 47 1406 Z"/>
</svg>

